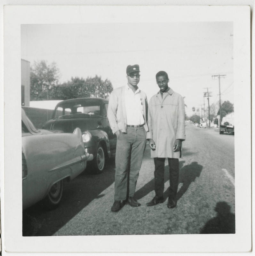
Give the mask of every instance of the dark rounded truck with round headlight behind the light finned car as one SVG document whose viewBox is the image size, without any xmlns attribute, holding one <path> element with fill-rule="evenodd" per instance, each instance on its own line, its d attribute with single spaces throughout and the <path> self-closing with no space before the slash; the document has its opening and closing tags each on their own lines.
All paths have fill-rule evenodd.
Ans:
<svg viewBox="0 0 255 256">
<path fill-rule="evenodd" d="M 84 147 L 92 161 L 92 171 L 102 172 L 107 158 L 116 153 L 116 135 L 112 133 L 107 118 L 108 100 L 102 98 L 77 98 L 59 102 L 52 119 L 44 129 L 72 132 L 82 131 Z"/>
</svg>

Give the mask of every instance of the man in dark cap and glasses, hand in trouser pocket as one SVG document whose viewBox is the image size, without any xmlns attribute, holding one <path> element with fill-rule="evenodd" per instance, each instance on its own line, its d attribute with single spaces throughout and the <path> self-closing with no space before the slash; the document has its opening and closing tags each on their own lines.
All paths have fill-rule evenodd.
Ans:
<svg viewBox="0 0 255 256">
<path fill-rule="evenodd" d="M 112 212 L 124 204 L 140 206 L 133 198 L 146 145 L 147 97 L 137 84 L 139 65 L 128 65 L 127 85 L 113 90 L 109 98 L 108 120 L 117 136 L 115 194 Z"/>
</svg>

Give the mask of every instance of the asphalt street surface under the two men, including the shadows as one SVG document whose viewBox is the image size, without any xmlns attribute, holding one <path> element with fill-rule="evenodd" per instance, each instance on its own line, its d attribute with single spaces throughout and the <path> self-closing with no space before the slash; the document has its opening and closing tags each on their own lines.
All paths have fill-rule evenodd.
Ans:
<svg viewBox="0 0 255 256">
<path fill-rule="evenodd" d="M 140 207 L 125 205 L 119 212 L 110 211 L 115 174 L 111 160 L 101 174 L 84 172 L 64 183 L 57 209 L 45 210 L 39 202 L 24 211 L 23 236 L 234 233 L 234 164 L 233 135 L 188 124 L 176 208 L 167 208 L 166 164 L 166 200 L 146 206 L 154 196 L 154 163 L 147 145 L 135 194 Z"/>
</svg>

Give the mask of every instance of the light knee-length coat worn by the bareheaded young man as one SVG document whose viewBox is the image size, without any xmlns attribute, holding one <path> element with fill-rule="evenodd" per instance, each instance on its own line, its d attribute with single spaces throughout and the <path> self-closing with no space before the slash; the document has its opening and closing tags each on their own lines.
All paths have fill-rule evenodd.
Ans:
<svg viewBox="0 0 255 256">
<path fill-rule="evenodd" d="M 171 88 L 163 94 L 158 92 L 149 101 L 147 139 L 156 145 L 151 157 L 179 158 L 180 151 L 173 152 L 176 139 L 185 140 L 185 105 L 182 96 Z"/>
</svg>

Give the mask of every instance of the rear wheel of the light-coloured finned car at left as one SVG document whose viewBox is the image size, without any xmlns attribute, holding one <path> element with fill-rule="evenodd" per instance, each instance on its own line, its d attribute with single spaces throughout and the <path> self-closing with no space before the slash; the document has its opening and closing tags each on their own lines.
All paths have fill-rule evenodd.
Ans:
<svg viewBox="0 0 255 256">
<path fill-rule="evenodd" d="M 59 180 L 52 185 L 48 195 L 45 197 L 46 206 L 49 209 L 54 209 L 55 207 L 57 207 L 61 201 L 62 194 L 63 180 Z"/>
</svg>

